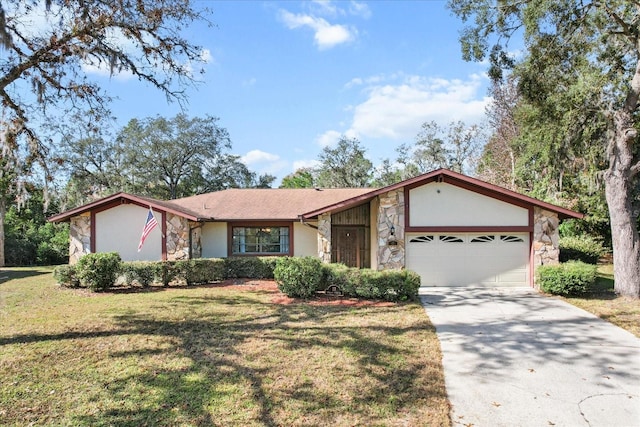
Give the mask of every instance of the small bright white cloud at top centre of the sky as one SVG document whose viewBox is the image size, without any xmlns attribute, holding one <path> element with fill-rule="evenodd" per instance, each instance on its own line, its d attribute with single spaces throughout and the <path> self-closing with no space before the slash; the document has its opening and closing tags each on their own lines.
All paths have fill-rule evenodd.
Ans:
<svg viewBox="0 0 640 427">
<path fill-rule="evenodd" d="M 358 30 L 339 24 L 331 24 L 324 18 L 313 15 L 294 14 L 280 10 L 280 19 L 289 29 L 308 27 L 314 31 L 314 40 L 319 49 L 330 49 L 339 44 L 348 43 L 358 35 Z"/>
</svg>

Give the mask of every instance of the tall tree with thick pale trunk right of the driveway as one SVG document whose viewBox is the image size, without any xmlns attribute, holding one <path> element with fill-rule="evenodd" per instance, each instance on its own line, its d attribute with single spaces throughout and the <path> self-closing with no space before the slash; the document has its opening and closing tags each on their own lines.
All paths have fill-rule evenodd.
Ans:
<svg viewBox="0 0 640 427">
<path fill-rule="evenodd" d="M 551 148 L 546 151 L 551 156 L 537 161 L 571 160 L 572 150 L 593 147 L 606 157 L 615 290 L 640 298 L 640 5 L 623 0 L 450 0 L 449 7 L 472 21 L 461 37 L 465 59 L 488 56 L 490 75 L 497 79 L 514 67 L 528 112 L 541 119 L 540 133 L 529 137 Z M 514 34 L 524 35 L 527 48 L 517 64 L 507 54 Z"/>
</svg>

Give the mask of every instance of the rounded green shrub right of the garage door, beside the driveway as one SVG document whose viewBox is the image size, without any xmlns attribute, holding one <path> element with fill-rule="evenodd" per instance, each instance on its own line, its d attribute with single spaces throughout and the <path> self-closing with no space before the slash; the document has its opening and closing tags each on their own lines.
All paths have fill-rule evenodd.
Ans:
<svg viewBox="0 0 640 427">
<path fill-rule="evenodd" d="M 544 292 L 576 296 L 586 293 L 596 282 L 597 267 L 582 261 L 538 267 L 538 283 Z"/>
</svg>

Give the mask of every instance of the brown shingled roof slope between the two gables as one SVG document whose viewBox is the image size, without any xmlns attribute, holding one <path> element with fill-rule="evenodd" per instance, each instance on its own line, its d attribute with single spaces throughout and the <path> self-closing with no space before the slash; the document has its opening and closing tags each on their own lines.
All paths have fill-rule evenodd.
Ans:
<svg viewBox="0 0 640 427">
<path fill-rule="evenodd" d="M 295 220 L 299 215 L 375 188 L 234 188 L 172 200 L 176 208 L 210 220 Z"/>
</svg>

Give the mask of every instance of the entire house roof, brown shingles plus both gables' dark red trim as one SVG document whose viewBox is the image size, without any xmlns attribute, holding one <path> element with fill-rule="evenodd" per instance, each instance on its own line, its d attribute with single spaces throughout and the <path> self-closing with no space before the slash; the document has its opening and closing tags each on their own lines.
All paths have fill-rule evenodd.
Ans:
<svg viewBox="0 0 640 427">
<path fill-rule="evenodd" d="M 119 203 L 134 203 L 173 213 L 192 221 L 293 221 L 310 219 L 367 203 L 398 189 L 412 189 L 430 182 L 446 182 L 521 207 L 538 206 L 556 212 L 561 219 L 584 215 L 448 169 L 438 169 L 383 188 L 243 188 L 228 189 L 176 200 L 157 200 L 116 193 L 95 202 L 54 215 L 52 222 L 68 221 L 85 212 L 99 211 Z"/>
</svg>

